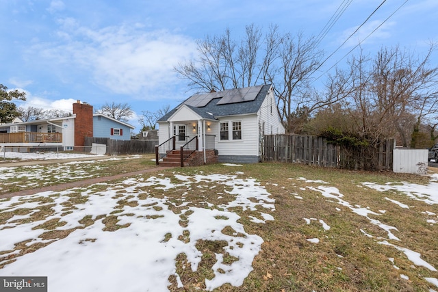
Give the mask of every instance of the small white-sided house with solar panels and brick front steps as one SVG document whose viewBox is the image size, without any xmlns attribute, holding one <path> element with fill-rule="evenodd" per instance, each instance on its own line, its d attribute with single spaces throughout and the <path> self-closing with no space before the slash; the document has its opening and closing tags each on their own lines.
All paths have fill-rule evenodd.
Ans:
<svg viewBox="0 0 438 292">
<path fill-rule="evenodd" d="M 271 85 L 195 94 L 157 123 L 157 163 L 179 150 L 181 166 L 196 152 L 203 163 L 259 162 L 263 136 L 285 133 Z"/>
</svg>

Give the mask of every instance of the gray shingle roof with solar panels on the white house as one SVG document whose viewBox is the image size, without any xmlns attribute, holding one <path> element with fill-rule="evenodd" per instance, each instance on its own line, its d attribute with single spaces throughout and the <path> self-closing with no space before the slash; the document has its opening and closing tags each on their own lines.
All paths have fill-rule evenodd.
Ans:
<svg viewBox="0 0 438 292">
<path fill-rule="evenodd" d="M 255 114 L 259 111 L 270 88 L 271 85 L 258 85 L 237 90 L 233 89 L 224 90 L 222 92 L 196 94 L 190 96 L 190 98 L 183 101 L 183 103 L 169 111 L 166 115 L 162 116 L 162 118 L 159 118 L 158 122 L 165 122 L 168 120 L 168 118 L 175 114 L 175 111 L 177 111 L 181 105 L 190 107 L 190 109 L 202 118 L 210 120 L 217 119 L 221 116 Z M 243 92 L 250 92 L 253 96 L 250 96 L 250 94 L 242 96 L 242 90 Z M 224 96 L 226 100 L 222 100 Z M 253 98 L 253 100 L 248 100 L 248 98 Z"/>
</svg>

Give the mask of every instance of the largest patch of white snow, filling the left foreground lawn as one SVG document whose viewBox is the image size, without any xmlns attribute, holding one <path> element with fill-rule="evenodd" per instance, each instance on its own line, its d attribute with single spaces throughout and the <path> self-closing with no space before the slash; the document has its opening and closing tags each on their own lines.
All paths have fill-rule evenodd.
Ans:
<svg viewBox="0 0 438 292">
<path fill-rule="evenodd" d="M 200 181 L 224 185 L 231 199 L 216 209 L 204 209 L 187 202 L 171 202 L 166 196 L 155 198 L 151 195 L 154 189 L 165 192 L 170 189 L 185 190 Z M 6 239 L 0 241 L 3 255 L 15 253 L 14 243 L 25 240 L 30 240 L 28 245 L 41 243 L 40 236 L 47 230 L 38 226 L 49 220 L 57 219 L 64 224 L 53 230 L 78 228 L 63 239 L 44 241 L 49 244 L 8 263 L 1 269 L 3 276 L 48 276 L 51 290 L 63 292 L 126 291 L 127 283 L 129 291 L 167 291 L 168 277 L 171 275 L 175 275 L 178 287 L 183 287 L 181 278 L 175 274 L 175 258 L 178 254 L 185 254 L 190 268 L 196 271 L 203 254 L 202 250 L 196 248 L 196 243 L 202 239 L 226 242 L 224 253 L 237 258 L 237 261 L 229 265 L 223 263 L 221 253 L 216 254 L 216 263 L 212 268 L 215 276 L 205 280 L 207 290 L 216 289 L 224 283 L 240 286 L 253 270 L 252 263 L 259 254 L 263 239 L 247 233 L 244 226 L 238 223 L 240 215 L 229 210 L 235 207 L 250 209 L 258 212 L 264 220 L 274 220 L 272 215 L 260 212 L 261 209 L 274 211 L 275 200 L 270 198 L 270 193 L 253 178 L 237 179 L 233 175 L 178 175 L 172 179 L 165 176 L 127 178 L 120 183 L 108 185 L 102 191 L 92 191 L 92 186 L 85 191 L 81 189 L 83 200 L 73 204 L 73 209 L 65 210 L 64 204 L 70 200 L 72 191 L 78 190 L 57 193 L 48 191 L 0 200 L 2 211 L 23 207 L 33 212 L 41 207 L 52 209 L 51 215 L 36 222 L 14 221 L 24 219 L 29 214 L 12 217 L 5 222 L 8 228 L 0 230 L 0 238 Z M 42 199 L 44 202 L 40 201 Z M 134 204 L 120 209 L 117 207 L 120 200 Z M 114 211 L 118 213 L 114 214 Z M 190 215 L 185 217 L 187 224 L 181 226 L 181 216 L 188 211 Z M 127 227 L 113 232 L 105 231 L 103 220 L 110 215 L 116 216 L 118 225 Z M 89 226 L 79 223 L 86 216 L 95 220 Z M 98 216 L 103 217 L 96 220 Z M 227 226 L 235 230 L 235 235 L 221 232 Z M 180 240 L 186 233 L 188 240 Z M 225 274 L 222 274 L 222 270 Z M 138 280 L 140 278 L 141 281 Z"/>
</svg>

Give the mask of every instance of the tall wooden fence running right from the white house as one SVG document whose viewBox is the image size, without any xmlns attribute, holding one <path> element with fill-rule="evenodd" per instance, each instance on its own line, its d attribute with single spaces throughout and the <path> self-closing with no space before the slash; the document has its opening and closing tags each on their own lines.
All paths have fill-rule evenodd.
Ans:
<svg viewBox="0 0 438 292">
<path fill-rule="evenodd" d="M 394 143 L 394 138 L 388 138 L 377 147 L 351 151 L 314 135 L 265 135 L 262 157 L 263 161 L 304 163 L 326 168 L 392 170 Z"/>
</svg>

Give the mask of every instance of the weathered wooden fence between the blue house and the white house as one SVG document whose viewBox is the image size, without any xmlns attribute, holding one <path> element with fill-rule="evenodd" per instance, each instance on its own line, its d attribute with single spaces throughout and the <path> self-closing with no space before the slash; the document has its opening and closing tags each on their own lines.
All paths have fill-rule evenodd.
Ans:
<svg viewBox="0 0 438 292">
<path fill-rule="evenodd" d="M 105 144 L 107 155 L 148 154 L 155 152 L 158 140 L 111 140 L 110 138 L 85 137 L 86 146 Z"/>
</svg>

